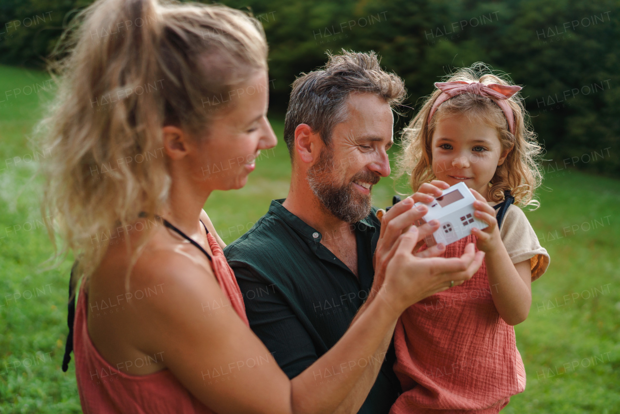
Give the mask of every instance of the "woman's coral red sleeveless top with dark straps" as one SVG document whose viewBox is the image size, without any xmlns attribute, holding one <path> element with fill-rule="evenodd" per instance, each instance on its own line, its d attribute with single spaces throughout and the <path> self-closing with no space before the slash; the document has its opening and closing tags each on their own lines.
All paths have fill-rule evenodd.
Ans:
<svg viewBox="0 0 620 414">
<path fill-rule="evenodd" d="M 232 307 L 249 326 L 241 290 L 215 237 L 207 234 L 213 258 L 211 268 Z M 204 252 L 206 254 L 206 252 Z M 208 256 L 208 254 L 207 254 Z M 180 384 L 168 369 L 144 376 L 128 375 L 108 364 L 91 341 L 87 326 L 86 290 L 80 290 L 74 323 L 74 355 L 79 397 L 84 413 L 177 414 L 213 413 Z M 157 361 L 148 356 L 144 364 Z"/>
</svg>

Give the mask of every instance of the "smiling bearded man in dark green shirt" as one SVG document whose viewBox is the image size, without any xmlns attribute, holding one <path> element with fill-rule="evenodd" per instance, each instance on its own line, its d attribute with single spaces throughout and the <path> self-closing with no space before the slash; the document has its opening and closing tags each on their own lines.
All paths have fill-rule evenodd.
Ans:
<svg viewBox="0 0 620 414">
<path fill-rule="evenodd" d="M 273 200 L 225 250 L 252 330 L 291 378 L 334 346 L 373 297 L 371 287 L 381 286 L 373 285 L 382 277 L 373 256 L 389 246 L 378 246 L 381 223 L 370 192 L 390 173 L 392 106 L 404 94 L 402 79 L 381 70 L 374 53 L 330 56 L 324 70 L 296 79 L 285 120 L 293 168 L 288 197 Z M 437 228 L 425 226 L 428 233 Z M 400 389 L 390 340 L 368 361 L 348 361 L 368 369 L 339 412 L 389 412 Z M 346 375 L 344 364 L 314 378 Z"/>
</svg>

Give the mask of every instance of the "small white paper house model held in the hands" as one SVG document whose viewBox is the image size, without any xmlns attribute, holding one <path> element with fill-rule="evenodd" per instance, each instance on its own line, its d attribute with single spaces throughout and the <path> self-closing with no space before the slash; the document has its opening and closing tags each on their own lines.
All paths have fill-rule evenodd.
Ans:
<svg viewBox="0 0 620 414">
<path fill-rule="evenodd" d="M 445 189 L 440 197 L 430 203 L 415 203 L 428 207 L 428 213 L 418 225 L 430 220 L 440 222 L 439 229 L 425 238 L 427 246 L 435 246 L 437 243 L 447 246 L 471 235 L 472 227 L 480 230 L 487 228 L 487 223 L 474 217 L 474 201 L 476 201 L 474 194 L 471 194 L 464 182 L 459 182 Z"/>
</svg>

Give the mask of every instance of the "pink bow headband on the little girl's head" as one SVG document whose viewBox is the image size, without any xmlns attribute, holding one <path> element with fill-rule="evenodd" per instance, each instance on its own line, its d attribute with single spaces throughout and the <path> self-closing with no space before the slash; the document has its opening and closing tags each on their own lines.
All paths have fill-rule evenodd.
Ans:
<svg viewBox="0 0 620 414">
<path fill-rule="evenodd" d="M 513 116 L 512 109 L 510 108 L 508 102 L 506 102 L 506 99 L 520 91 L 522 89 L 521 86 L 498 85 L 497 83 L 485 85 L 484 83 L 479 82 L 467 83 L 464 81 L 435 82 L 435 86 L 442 93 L 437 97 L 437 99 L 435 99 L 433 107 L 428 113 L 428 122 L 430 122 L 435 114 L 435 111 L 441 104 L 443 104 L 443 102 L 446 102 L 448 99 L 457 95 L 469 92 L 479 96 L 489 97 L 492 101 L 494 101 L 497 106 L 503 110 L 506 120 L 508 120 L 508 128 L 510 128 L 510 132 L 513 134 L 515 133 L 515 117 Z"/>
</svg>

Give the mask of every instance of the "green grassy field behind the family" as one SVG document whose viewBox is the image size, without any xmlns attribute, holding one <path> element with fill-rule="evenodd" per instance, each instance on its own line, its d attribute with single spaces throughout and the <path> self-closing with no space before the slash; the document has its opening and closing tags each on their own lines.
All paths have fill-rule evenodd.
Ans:
<svg viewBox="0 0 620 414">
<path fill-rule="evenodd" d="M 69 372 L 60 369 L 71 258 L 45 270 L 52 248 L 41 179 L 32 179 L 49 155 L 28 139 L 51 91 L 47 79 L 0 66 L 0 413 L 81 412 L 73 361 Z M 272 117 L 280 137 L 281 119 Z M 246 232 L 271 199 L 286 197 L 289 176 L 280 142 L 263 151 L 248 186 L 213 194 L 206 210 L 224 241 Z M 528 320 L 516 326 L 528 384 L 504 412 L 618 413 L 620 181 L 550 167 L 544 186 L 541 208 L 528 217 L 551 267 L 533 284 Z M 392 194 L 383 179 L 374 204 L 391 204 Z"/>
</svg>

